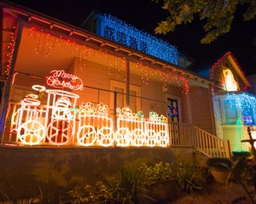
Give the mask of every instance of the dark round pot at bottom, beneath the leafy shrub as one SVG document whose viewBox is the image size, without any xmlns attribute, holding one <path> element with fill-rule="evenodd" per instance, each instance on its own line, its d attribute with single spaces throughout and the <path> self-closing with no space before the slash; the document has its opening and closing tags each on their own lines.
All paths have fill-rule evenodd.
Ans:
<svg viewBox="0 0 256 204">
<path fill-rule="evenodd" d="M 164 202 L 173 199 L 178 194 L 178 181 L 177 179 L 169 179 L 164 182 L 154 182 L 150 185 L 149 196 L 155 202 Z M 154 202 L 154 203 L 155 203 Z"/>
</svg>

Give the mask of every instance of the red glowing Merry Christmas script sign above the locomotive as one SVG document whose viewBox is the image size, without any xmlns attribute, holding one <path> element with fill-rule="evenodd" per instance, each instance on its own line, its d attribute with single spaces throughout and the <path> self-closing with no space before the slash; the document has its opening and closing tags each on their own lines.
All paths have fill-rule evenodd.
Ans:
<svg viewBox="0 0 256 204">
<path fill-rule="evenodd" d="M 46 77 L 48 85 L 54 88 L 70 88 L 71 90 L 82 90 L 83 84 L 79 77 L 66 73 L 64 70 L 53 70 L 52 76 Z"/>
</svg>

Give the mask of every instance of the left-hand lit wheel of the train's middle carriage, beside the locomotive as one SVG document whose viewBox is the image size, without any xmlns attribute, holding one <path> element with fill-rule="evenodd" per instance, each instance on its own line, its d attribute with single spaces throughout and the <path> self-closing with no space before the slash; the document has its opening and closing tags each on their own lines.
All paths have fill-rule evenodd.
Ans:
<svg viewBox="0 0 256 204">
<path fill-rule="evenodd" d="M 90 125 L 83 125 L 77 133 L 78 144 L 82 146 L 92 146 L 97 139 L 95 128 Z"/>
</svg>

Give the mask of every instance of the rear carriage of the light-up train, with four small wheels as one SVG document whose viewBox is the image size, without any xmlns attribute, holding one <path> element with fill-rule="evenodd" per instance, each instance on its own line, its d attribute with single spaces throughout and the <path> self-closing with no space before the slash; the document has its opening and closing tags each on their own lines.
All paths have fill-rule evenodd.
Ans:
<svg viewBox="0 0 256 204">
<path fill-rule="evenodd" d="M 169 144 L 168 125 L 165 116 L 150 112 L 150 119 L 144 120 L 142 112 L 132 113 L 130 108 L 117 109 L 117 145 L 166 147 Z"/>
</svg>

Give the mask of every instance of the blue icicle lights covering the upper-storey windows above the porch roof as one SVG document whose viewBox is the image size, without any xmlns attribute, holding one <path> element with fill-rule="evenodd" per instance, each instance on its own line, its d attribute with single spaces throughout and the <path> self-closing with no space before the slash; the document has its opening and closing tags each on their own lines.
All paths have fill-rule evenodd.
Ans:
<svg viewBox="0 0 256 204">
<path fill-rule="evenodd" d="M 142 32 L 109 14 L 98 15 L 98 22 L 100 25 L 97 26 L 96 33 L 102 37 L 178 65 L 178 50 L 168 42 Z"/>
</svg>

